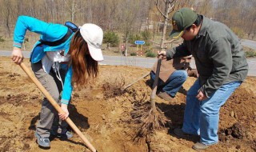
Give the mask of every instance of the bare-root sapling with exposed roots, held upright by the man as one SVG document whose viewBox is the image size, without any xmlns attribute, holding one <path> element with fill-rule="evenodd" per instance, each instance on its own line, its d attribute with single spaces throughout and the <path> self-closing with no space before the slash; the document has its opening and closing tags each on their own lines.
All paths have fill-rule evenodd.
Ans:
<svg viewBox="0 0 256 152">
<path fill-rule="evenodd" d="M 178 1 L 178 0 L 162 0 L 163 3 L 159 4 L 158 0 L 155 0 L 155 6 L 157 7 L 160 14 L 162 14 L 162 18 L 164 18 L 164 26 L 162 31 L 162 38 L 160 42 L 160 48 L 164 50 L 166 48 L 166 44 L 172 42 L 166 42 L 166 27 L 167 23 L 170 21 L 169 14 L 178 8 L 185 6 L 186 1 Z M 160 6 L 164 6 L 164 11 L 160 8 Z M 176 6 L 177 5 L 177 6 Z M 149 135 L 154 130 L 159 130 L 169 120 L 163 114 L 162 110 L 160 110 L 155 105 L 155 96 L 158 87 L 158 78 L 160 72 L 162 58 L 158 59 L 157 70 L 154 78 L 153 90 L 150 95 L 150 104 L 135 106 L 134 110 L 131 112 L 132 117 L 135 118 L 136 121 L 141 122 L 140 128 L 138 128 L 138 132 L 135 134 L 134 140 L 138 140 L 138 138 Z M 147 137 L 147 136 L 146 136 Z"/>
</svg>

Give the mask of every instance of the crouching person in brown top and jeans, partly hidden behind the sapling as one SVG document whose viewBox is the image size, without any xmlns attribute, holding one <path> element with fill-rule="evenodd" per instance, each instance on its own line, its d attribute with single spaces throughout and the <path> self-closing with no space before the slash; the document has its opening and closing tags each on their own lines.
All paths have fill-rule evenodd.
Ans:
<svg viewBox="0 0 256 152">
<path fill-rule="evenodd" d="M 186 81 L 187 76 L 198 77 L 197 70 L 190 67 L 190 61 L 190 56 L 170 60 L 162 59 L 157 91 L 159 98 L 170 102 Z M 154 63 L 150 72 L 151 82 L 154 82 L 156 69 L 157 62 Z"/>
</svg>

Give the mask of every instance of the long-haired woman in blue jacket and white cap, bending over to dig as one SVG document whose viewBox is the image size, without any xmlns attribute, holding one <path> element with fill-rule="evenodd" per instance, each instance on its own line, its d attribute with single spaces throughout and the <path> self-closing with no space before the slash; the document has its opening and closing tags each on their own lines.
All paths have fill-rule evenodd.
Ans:
<svg viewBox="0 0 256 152">
<path fill-rule="evenodd" d="M 73 31 L 61 24 L 19 16 L 14 29 L 14 50 L 11 57 L 17 64 L 23 60 L 21 48 L 26 30 L 40 34 L 40 40 L 35 43 L 30 55 L 32 70 L 65 111 L 65 114 L 58 114 L 50 102 L 43 99 L 35 137 L 39 146 L 50 147 L 50 135 L 61 138 L 73 136 L 66 130 L 67 124 L 64 121 L 69 115 L 67 106 L 74 85 L 84 86 L 90 78 L 98 76 L 98 61 L 103 60 L 103 32 L 99 26 L 90 23 Z M 62 98 L 59 101 L 61 92 Z"/>
</svg>

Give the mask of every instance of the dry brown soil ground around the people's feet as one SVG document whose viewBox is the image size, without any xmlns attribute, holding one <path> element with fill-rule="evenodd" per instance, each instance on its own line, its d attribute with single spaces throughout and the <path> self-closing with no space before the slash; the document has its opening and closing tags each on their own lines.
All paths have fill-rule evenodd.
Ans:
<svg viewBox="0 0 256 152">
<path fill-rule="evenodd" d="M 0 58 L 0 151 L 42 151 L 34 140 L 35 124 L 42 102 L 42 93 L 10 58 Z M 25 61 L 29 66 L 28 60 Z M 173 102 L 157 98 L 157 106 L 170 119 L 170 125 L 149 138 L 133 142 L 138 125 L 130 112 L 135 102 L 150 100 L 149 77 L 114 94 L 104 90 L 118 79 L 129 84 L 149 73 L 150 69 L 131 66 L 100 66 L 100 75 L 86 89 L 75 89 L 70 105 L 70 118 L 98 151 L 194 151 L 198 138 L 177 138 L 173 134 L 182 126 L 186 91 L 194 83 L 188 78 Z M 248 77 L 221 108 L 219 142 L 206 151 L 256 150 L 256 78 Z M 104 86 L 105 85 L 105 86 Z M 74 134 L 69 141 L 54 138 L 50 151 L 90 151 Z"/>
</svg>

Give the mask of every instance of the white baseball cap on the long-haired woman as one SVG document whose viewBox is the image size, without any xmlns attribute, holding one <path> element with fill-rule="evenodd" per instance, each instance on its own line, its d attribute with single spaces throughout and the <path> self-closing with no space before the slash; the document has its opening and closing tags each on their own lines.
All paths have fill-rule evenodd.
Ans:
<svg viewBox="0 0 256 152">
<path fill-rule="evenodd" d="M 80 27 L 80 33 L 87 42 L 90 56 L 98 62 L 104 60 L 101 49 L 103 40 L 102 28 L 95 24 L 86 23 Z"/>
</svg>

